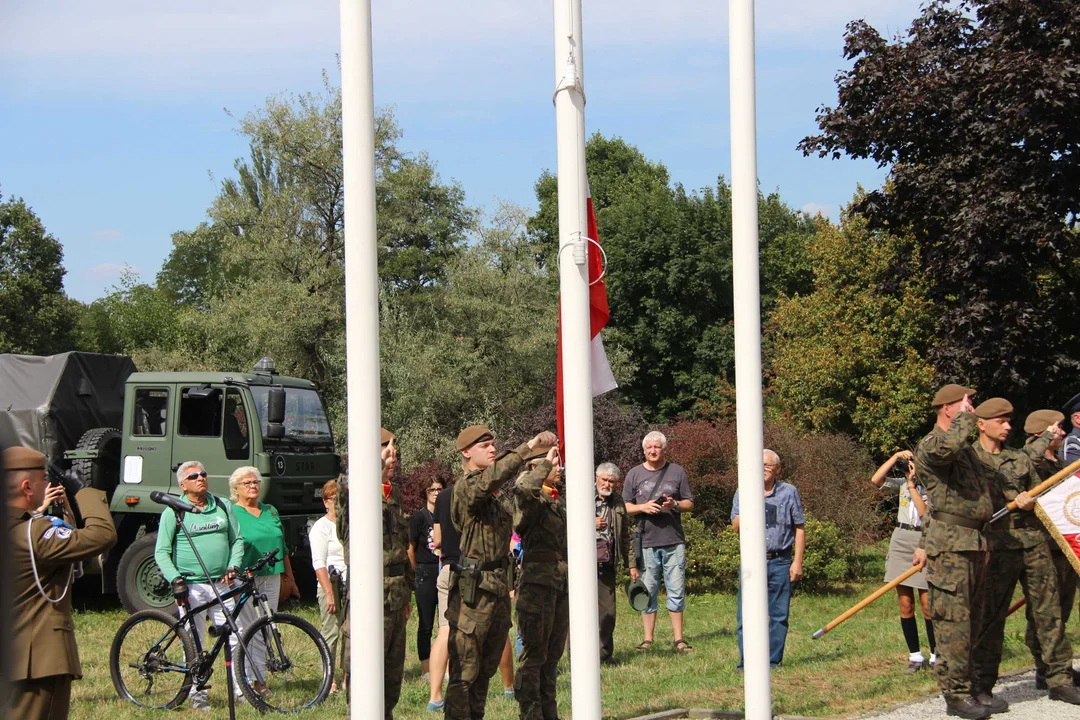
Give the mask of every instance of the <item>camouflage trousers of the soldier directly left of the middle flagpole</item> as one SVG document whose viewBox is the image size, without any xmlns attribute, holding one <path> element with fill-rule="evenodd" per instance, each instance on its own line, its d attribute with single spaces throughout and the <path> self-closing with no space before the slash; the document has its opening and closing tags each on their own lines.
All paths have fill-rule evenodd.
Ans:
<svg viewBox="0 0 1080 720">
<path fill-rule="evenodd" d="M 517 634 L 522 656 L 514 677 L 521 720 L 558 720 L 555 679 L 570 631 L 566 590 L 527 583 L 517 594 Z"/>
</svg>

